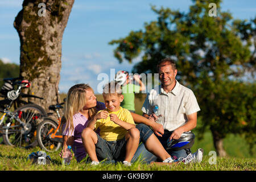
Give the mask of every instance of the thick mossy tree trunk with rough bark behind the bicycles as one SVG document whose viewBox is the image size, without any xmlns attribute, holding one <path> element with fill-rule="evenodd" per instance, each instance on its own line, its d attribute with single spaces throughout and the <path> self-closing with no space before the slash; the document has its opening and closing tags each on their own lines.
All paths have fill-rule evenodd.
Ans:
<svg viewBox="0 0 256 182">
<path fill-rule="evenodd" d="M 40 3 L 46 7 L 45 16 Z M 24 0 L 14 21 L 20 39 L 20 76 L 31 81 L 27 93 L 44 98 L 31 101 L 46 110 L 60 102 L 61 41 L 73 3 L 74 0 Z"/>
</svg>

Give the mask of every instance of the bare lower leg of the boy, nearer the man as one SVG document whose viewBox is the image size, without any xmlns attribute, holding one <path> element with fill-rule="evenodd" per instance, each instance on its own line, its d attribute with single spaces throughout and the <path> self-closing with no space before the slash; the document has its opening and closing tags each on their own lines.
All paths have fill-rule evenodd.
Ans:
<svg viewBox="0 0 256 182">
<path fill-rule="evenodd" d="M 139 130 L 135 127 L 131 128 L 126 134 L 125 140 L 127 142 L 125 160 L 130 163 L 139 146 Z"/>
</svg>

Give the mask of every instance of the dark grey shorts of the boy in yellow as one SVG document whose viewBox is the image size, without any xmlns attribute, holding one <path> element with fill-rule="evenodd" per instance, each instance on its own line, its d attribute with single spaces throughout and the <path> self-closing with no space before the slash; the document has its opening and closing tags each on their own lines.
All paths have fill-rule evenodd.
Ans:
<svg viewBox="0 0 256 182">
<path fill-rule="evenodd" d="M 97 133 L 96 133 L 97 134 Z M 126 154 L 126 140 L 123 137 L 117 141 L 107 141 L 97 134 L 98 142 L 96 146 L 96 155 L 98 160 L 124 160 Z"/>
</svg>

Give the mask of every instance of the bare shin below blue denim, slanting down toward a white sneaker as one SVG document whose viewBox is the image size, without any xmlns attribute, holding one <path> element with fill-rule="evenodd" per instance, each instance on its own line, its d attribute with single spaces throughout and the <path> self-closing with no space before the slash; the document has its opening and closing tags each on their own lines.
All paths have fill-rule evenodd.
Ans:
<svg viewBox="0 0 256 182">
<path fill-rule="evenodd" d="M 145 147 L 148 151 L 150 151 L 152 154 L 157 156 L 161 160 L 165 160 L 167 158 L 170 158 L 170 154 L 164 149 L 158 138 L 155 137 L 154 134 L 152 134 L 146 141 Z"/>
</svg>

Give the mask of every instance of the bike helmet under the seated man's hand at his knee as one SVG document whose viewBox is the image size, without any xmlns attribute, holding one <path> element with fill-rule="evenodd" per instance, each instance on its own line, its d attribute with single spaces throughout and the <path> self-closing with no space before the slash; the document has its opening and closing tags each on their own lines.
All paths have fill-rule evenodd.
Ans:
<svg viewBox="0 0 256 182">
<path fill-rule="evenodd" d="M 184 132 L 177 140 L 171 139 L 167 141 L 167 150 L 177 151 L 184 148 L 191 148 L 195 142 L 195 134 L 192 132 Z"/>
</svg>

